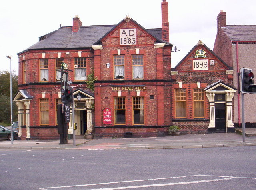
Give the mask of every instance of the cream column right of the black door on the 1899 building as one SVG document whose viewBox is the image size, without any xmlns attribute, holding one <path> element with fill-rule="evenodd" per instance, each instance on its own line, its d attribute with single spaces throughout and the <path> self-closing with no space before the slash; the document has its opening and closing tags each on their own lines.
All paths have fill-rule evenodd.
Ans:
<svg viewBox="0 0 256 190">
<path fill-rule="evenodd" d="M 234 128 L 234 123 L 232 121 L 232 99 L 234 97 L 234 92 L 226 92 L 226 127 Z"/>
</svg>

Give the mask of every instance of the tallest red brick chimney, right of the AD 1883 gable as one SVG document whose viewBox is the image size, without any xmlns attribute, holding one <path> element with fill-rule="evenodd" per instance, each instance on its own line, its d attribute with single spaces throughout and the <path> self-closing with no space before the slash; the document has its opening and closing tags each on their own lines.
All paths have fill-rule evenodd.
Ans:
<svg viewBox="0 0 256 190">
<path fill-rule="evenodd" d="M 162 9 L 162 39 L 169 42 L 169 19 L 168 19 L 168 2 L 163 0 Z"/>
</svg>

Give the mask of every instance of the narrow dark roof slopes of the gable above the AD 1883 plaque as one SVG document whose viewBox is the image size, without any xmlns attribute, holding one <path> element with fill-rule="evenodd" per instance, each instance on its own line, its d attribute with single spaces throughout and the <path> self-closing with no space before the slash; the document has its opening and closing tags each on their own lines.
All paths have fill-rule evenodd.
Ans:
<svg viewBox="0 0 256 190">
<path fill-rule="evenodd" d="M 157 43 L 165 43 L 168 45 L 172 45 L 170 42 L 167 42 L 165 40 L 162 40 L 160 37 L 162 36 L 162 28 L 156 28 L 156 29 L 146 29 L 143 26 L 141 26 L 140 24 L 138 24 L 138 22 L 136 22 L 135 20 L 133 20 L 132 18 L 130 18 L 130 21 L 134 22 L 136 25 L 138 25 L 140 28 L 142 28 L 143 30 L 145 30 L 146 32 L 148 32 L 151 36 L 153 36 L 154 38 L 156 38 L 156 42 Z M 129 22 L 130 22 L 129 21 Z M 93 45 L 101 45 L 101 41 L 102 39 L 104 39 L 106 36 L 108 36 L 108 34 L 110 32 L 112 32 L 113 30 L 115 30 L 116 28 L 118 28 L 118 26 L 122 23 L 122 22 L 126 22 L 125 19 L 121 20 L 118 24 L 116 24 L 116 26 L 114 26 L 110 31 L 108 31 L 108 33 L 106 33 L 104 36 L 102 36 L 102 38 L 100 38 L 97 42 L 95 42 Z"/>
</svg>

